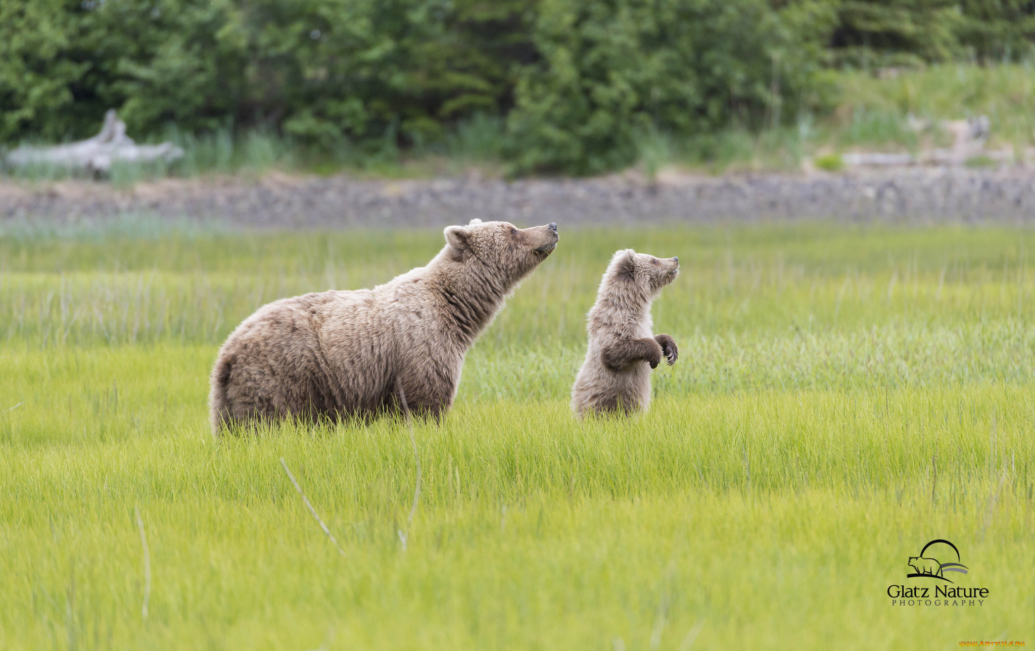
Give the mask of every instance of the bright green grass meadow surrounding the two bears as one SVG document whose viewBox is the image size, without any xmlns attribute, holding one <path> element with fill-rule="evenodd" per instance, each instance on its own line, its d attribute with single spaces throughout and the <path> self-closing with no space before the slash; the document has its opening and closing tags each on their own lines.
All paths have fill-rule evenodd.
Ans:
<svg viewBox="0 0 1035 651">
<path fill-rule="evenodd" d="M 0 233 L 0 647 L 1035 644 L 1030 231 L 561 226 L 414 427 L 412 524 L 403 421 L 214 440 L 207 379 L 259 305 L 384 282 L 441 234 Z M 654 305 L 680 359 L 648 414 L 580 423 L 584 315 L 626 246 L 683 264 Z M 983 603 L 892 605 L 936 538 Z"/>
</svg>

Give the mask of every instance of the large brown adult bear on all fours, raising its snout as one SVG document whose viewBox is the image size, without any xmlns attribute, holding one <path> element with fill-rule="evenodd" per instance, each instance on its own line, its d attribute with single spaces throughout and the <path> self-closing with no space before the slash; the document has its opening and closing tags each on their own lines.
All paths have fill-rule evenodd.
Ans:
<svg viewBox="0 0 1035 651">
<path fill-rule="evenodd" d="M 372 290 L 329 291 L 260 307 L 212 368 L 212 427 L 368 416 L 452 406 L 464 356 L 519 282 L 557 246 L 557 225 L 450 226 L 425 267 Z"/>
</svg>

